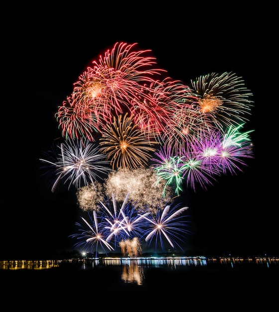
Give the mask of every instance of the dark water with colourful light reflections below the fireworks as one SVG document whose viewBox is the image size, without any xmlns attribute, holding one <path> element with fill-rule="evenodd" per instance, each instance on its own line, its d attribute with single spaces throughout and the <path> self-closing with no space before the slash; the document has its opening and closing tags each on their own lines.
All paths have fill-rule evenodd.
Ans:
<svg viewBox="0 0 279 312">
<path fill-rule="evenodd" d="M 273 308 L 279 258 L 1 261 L 1 300 L 14 305 L 183 310 Z M 98 302 L 98 305 L 96 306 Z M 132 306 L 131 306 L 132 305 Z M 42 308 L 42 307 L 41 307 Z"/>
</svg>

